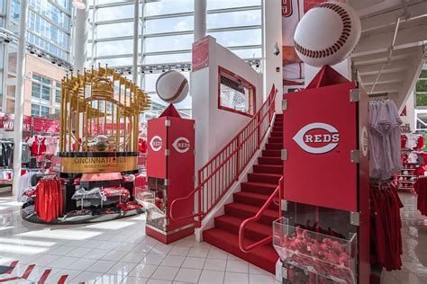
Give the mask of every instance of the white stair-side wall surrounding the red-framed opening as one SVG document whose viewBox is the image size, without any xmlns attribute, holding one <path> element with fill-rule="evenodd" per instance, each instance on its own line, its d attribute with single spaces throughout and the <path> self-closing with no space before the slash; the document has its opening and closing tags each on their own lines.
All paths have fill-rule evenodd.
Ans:
<svg viewBox="0 0 427 284">
<path fill-rule="evenodd" d="M 218 109 L 218 67 L 240 75 L 256 88 L 258 110 L 263 102 L 262 74 L 208 36 L 208 67 L 190 74 L 193 119 L 195 120 L 195 169 L 198 170 L 225 146 L 250 117 Z"/>
</svg>

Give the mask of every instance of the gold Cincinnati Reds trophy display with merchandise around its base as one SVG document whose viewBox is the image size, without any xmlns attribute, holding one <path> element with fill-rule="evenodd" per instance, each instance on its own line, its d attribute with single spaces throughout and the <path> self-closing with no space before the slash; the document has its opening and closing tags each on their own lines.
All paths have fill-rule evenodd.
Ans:
<svg viewBox="0 0 427 284">
<path fill-rule="evenodd" d="M 92 67 L 84 74 L 64 78 L 59 156 L 51 161 L 60 188 L 52 191 L 47 184 L 40 191 L 62 200 L 60 205 L 53 204 L 53 209 L 48 207 L 47 217 L 41 219 L 37 187 L 35 207 L 23 208 L 22 217 L 59 225 L 102 222 L 144 212 L 143 206 L 133 201 L 131 175 L 142 170 L 139 116 L 149 106 L 149 97 L 141 89 L 108 67 Z M 50 200 L 46 195 L 43 198 Z"/>
</svg>

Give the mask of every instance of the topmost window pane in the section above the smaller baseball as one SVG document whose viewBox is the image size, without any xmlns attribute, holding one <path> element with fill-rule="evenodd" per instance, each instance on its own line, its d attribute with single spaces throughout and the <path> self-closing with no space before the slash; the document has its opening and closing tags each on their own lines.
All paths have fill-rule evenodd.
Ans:
<svg viewBox="0 0 427 284">
<path fill-rule="evenodd" d="M 145 4 L 145 15 L 152 16 L 167 13 L 184 13 L 195 11 L 194 0 L 163 0 Z"/>
</svg>

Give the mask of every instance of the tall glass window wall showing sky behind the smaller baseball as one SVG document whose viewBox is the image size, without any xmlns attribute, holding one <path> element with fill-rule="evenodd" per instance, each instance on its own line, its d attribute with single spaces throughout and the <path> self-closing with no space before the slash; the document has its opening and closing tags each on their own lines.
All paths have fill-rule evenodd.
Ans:
<svg viewBox="0 0 427 284">
<path fill-rule="evenodd" d="M 141 4 L 140 64 L 190 63 L 195 0 Z M 142 1 L 141 1 L 142 3 Z M 143 7 L 142 7 L 143 5 Z M 262 0 L 207 0 L 207 33 L 240 56 L 262 58 Z M 133 1 L 92 0 L 89 57 L 94 65 L 132 66 Z M 183 72 L 189 77 L 188 72 Z M 151 94 L 160 74 L 146 74 L 141 87 Z M 191 98 L 177 104 L 190 109 Z"/>
</svg>

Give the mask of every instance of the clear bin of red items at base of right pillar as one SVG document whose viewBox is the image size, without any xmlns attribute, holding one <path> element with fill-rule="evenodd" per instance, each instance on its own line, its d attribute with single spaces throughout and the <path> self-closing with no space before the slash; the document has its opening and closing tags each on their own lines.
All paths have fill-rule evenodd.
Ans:
<svg viewBox="0 0 427 284">
<path fill-rule="evenodd" d="M 356 283 L 357 234 L 350 240 L 290 226 L 286 217 L 273 223 L 273 245 L 282 262 L 336 283 Z"/>
</svg>

